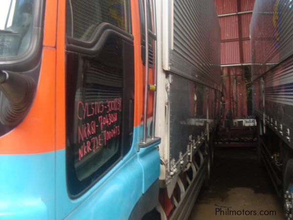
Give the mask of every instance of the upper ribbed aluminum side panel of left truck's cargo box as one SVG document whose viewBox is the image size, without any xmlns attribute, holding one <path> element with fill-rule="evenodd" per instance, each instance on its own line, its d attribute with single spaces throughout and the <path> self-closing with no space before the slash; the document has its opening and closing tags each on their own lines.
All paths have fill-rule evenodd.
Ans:
<svg viewBox="0 0 293 220">
<path fill-rule="evenodd" d="M 166 6 L 167 7 L 167 6 Z M 213 0 L 168 1 L 164 69 L 212 88 L 220 84 L 220 25 Z M 212 28 L 210 28 L 212 27 Z M 166 48 L 167 46 L 167 48 Z"/>
</svg>

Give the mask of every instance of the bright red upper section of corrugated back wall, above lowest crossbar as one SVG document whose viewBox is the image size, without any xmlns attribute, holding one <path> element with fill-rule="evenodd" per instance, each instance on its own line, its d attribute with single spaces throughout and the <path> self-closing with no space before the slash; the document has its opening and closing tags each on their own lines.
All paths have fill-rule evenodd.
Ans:
<svg viewBox="0 0 293 220">
<path fill-rule="evenodd" d="M 215 3 L 221 25 L 221 64 L 250 64 L 247 52 L 254 0 L 215 0 Z"/>
</svg>

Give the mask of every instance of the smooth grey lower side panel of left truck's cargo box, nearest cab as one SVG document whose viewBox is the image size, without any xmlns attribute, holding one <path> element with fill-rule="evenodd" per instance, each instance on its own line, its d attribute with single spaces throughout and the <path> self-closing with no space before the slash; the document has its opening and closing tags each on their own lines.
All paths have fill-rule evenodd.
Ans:
<svg viewBox="0 0 293 220">
<path fill-rule="evenodd" d="M 185 154 L 189 136 L 206 132 L 207 125 L 206 87 L 172 74 L 170 84 L 170 160 L 178 161 L 180 152 Z"/>
</svg>

